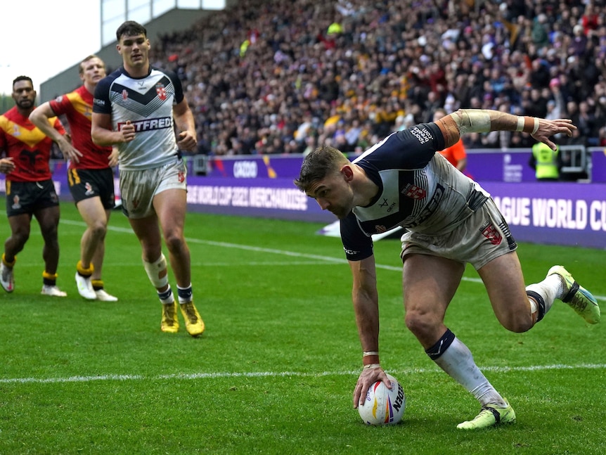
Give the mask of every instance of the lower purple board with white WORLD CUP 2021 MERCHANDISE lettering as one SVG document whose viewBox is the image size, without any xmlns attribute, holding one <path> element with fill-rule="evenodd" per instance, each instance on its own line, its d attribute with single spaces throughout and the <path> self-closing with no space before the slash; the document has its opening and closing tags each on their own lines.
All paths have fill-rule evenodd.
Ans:
<svg viewBox="0 0 606 455">
<path fill-rule="evenodd" d="M 606 184 L 484 181 L 517 241 L 606 248 Z M 333 222 L 291 179 L 188 179 L 190 210 Z"/>
</svg>

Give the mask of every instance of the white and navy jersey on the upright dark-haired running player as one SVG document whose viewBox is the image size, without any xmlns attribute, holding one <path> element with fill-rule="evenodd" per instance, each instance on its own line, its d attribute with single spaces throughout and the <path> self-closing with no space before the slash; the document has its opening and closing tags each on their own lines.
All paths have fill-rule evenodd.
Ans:
<svg viewBox="0 0 606 455">
<path fill-rule="evenodd" d="M 139 79 L 120 67 L 97 84 L 93 112 L 112 115 L 115 131 L 127 121 L 136 128 L 133 141 L 117 144 L 120 169 L 151 169 L 175 159 L 172 108 L 182 100 L 179 77 L 153 67 Z"/>
</svg>

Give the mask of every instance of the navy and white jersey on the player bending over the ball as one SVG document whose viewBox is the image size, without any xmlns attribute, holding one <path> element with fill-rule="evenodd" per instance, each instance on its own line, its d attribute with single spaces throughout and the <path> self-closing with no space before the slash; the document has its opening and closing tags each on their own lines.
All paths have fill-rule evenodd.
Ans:
<svg viewBox="0 0 606 455">
<path fill-rule="evenodd" d="M 448 233 L 484 204 L 489 193 L 437 153 L 443 148 L 437 124 L 418 124 L 390 134 L 354 160 L 379 191 L 370 205 L 354 207 L 341 220 L 347 259 L 372 255 L 375 233 L 396 226 L 427 235 Z"/>
</svg>

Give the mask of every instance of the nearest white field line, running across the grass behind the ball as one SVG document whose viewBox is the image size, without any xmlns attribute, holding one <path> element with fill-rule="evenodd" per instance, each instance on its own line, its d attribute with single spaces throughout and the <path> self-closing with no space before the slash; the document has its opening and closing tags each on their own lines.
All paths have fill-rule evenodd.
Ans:
<svg viewBox="0 0 606 455">
<path fill-rule="evenodd" d="M 534 365 L 534 366 L 484 366 L 482 371 L 496 371 L 498 373 L 510 373 L 517 371 L 553 371 L 553 370 L 597 370 L 606 369 L 606 364 L 578 364 L 578 365 Z M 411 374 L 439 373 L 440 369 L 394 369 L 390 373 L 399 376 Z M 91 383 L 94 381 L 131 381 L 131 380 L 192 380 L 192 379 L 217 379 L 217 378 L 267 378 L 267 377 L 296 377 L 296 378 L 323 378 L 325 376 L 359 376 L 360 371 L 322 371 L 318 373 L 303 373 L 300 371 L 252 371 L 242 373 L 176 373 L 159 376 L 144 375 L 101 375 L 101 376 L 70 376 L 68 378 L 6 378 L 0 379 L 0 384 L 58 384 L 58 383 Z"/>
</svg>

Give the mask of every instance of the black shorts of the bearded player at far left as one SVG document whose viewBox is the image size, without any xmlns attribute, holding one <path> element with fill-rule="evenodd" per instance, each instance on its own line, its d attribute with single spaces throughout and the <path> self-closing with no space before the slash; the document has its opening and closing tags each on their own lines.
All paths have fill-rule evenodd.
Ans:
<svg viewBox="0 0 606 455">
<path fill-rule="evenodd" d="M 56 207 L 59 198 L 51 179 L 42 181 L 6 181 L 6 216 L 33 214 Z"/>
</svg>

